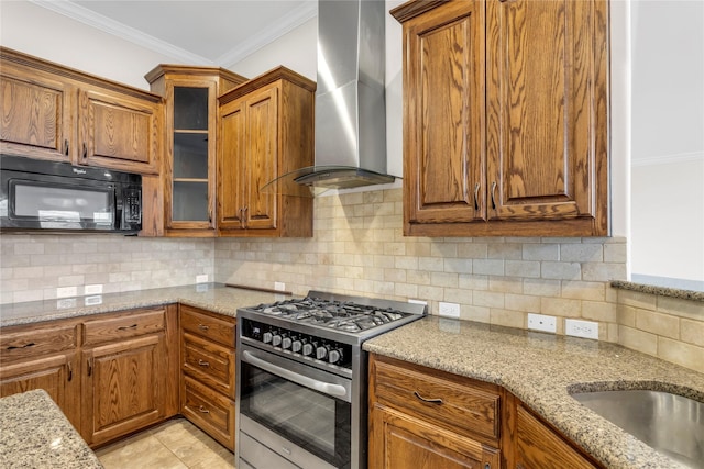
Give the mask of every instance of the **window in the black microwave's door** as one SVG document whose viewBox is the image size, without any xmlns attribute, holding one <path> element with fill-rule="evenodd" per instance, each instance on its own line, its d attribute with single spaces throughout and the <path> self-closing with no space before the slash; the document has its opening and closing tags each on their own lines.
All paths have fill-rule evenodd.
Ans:
<svg viewBox="0 0 704 469">
<path fill-rule="evenodd" d="M 14 215 L 54 222 L 112 224 L 111 190 L 13 181 Z"/>
</svg>

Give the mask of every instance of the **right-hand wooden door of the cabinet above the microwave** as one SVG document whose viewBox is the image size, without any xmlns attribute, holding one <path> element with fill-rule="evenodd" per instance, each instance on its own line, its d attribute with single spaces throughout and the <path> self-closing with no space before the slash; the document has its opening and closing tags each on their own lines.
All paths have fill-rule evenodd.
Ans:
<svg viewBox="0 0 704 469">
<path fill-rule="evenodd" d="M 123 171 L 158 172 L 161 104 L 84 90 L 79 99 L 79 163 Z"/>
</svg>

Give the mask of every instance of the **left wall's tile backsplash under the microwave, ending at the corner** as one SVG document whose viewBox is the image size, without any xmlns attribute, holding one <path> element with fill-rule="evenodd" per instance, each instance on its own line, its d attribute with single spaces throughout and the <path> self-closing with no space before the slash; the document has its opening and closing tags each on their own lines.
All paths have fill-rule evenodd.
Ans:
<svg viewBox="0 0 704 469">
<path fill-rule="evenodd" d="M 103 284 L 103 293 L 212 280 L 212 239 L 121 235 L 0 236 L 0 303 L 53 300 L 59 287 Z"/>
</svg>

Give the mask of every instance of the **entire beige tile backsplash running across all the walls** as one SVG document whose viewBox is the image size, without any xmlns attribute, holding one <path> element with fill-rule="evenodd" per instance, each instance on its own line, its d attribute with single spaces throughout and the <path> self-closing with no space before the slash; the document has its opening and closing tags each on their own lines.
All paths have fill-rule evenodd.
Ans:
<svg viewBox="0 0 704 469">
<path fill-rule="evenodd" d="M 56 298 L 210 281 L 460 304 L 460 317 L 527 328 L 528 313 L 598 322 L 600 339 L 704 372 L 704 303 L 618 290 L 624 237 L 405 237 L 402 190 L 315 199 L 312 238 L 0 236 L 1 299 Z"/>
</svg>

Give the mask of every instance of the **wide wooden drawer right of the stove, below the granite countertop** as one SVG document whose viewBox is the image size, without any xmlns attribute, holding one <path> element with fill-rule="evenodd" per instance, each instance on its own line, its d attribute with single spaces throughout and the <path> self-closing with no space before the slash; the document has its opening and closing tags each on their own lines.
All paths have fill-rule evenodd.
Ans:
<svg viewBox="0 0 704 469">
<path fill-rule="evenodd" d="M 383 361 L 374 361 L 372 371 L 378 403 L 462 435 L 498 438 L 499 395 L 491 384 L 474 387 Z"/>
</svg>

